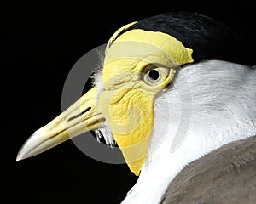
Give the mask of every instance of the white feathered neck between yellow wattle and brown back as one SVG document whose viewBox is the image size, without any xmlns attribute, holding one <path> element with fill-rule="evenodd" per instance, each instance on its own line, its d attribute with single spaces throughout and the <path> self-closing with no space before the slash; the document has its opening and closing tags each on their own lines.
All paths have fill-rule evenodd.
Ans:
<svg viewBox="0 0 256 204">
<path fill-rule="evenodd" d="M 256 69 L 211 60 L 187 65 L 155 100 L 147 161 L 123 203 L 158 203 L 189 162 L 256 134 Z"/>
</svg>

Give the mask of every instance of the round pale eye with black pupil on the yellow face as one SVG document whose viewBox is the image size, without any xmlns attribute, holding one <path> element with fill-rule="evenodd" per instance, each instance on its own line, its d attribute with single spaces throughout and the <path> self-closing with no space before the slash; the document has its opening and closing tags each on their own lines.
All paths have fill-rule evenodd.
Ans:
<svg viewBox="0 0 256 204">
<path fill-rule="evenodd" d="M 155 65 L 149 65 L 143 71 L 143 81 L 148 85 L 159 85 L 164 82 L 168 77 L 170 69 L 166 67 L 156 67 Z"/>
</svg>

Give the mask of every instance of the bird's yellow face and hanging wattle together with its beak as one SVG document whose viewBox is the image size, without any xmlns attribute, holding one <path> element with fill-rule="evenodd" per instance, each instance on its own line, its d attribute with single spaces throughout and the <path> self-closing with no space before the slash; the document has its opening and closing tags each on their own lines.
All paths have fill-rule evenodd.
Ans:
<svg viewBox="0 0 256 204">
<path fill-rule="evenodd" d="M 192 62 L 192 49 L 166 33 L 125 29 L 110 38 L 102 86 L 93 87 L 67 111 L 32 134 L 17 161 L 49 150 L 107 121 L 131 172 L 139 174 L 154 126 L 154 99 L 172 81 L 177 65 Z"/>
</svg>

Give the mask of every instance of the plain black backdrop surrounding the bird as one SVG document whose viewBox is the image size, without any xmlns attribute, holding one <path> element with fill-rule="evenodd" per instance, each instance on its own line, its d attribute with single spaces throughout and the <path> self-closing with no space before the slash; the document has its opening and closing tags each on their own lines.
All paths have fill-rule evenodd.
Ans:
<svg viewBox="0 0 256 204">
<path fill-rule="evenodd" d="M 35 1 L 36 2 L 36 1 Z M 253 2 L 253 1 L 252 1 Z M 207 14 L 252 38 L 255 46 L 255 7 L 245 1 L 131 2 L 61 1 L 13 4 L 6 15 L 3 52 L 13 97 L 8 134 L 14 135 L 14 173 L 9 199 L 19 202 L 119 203 L 136 183 L 126 165 L 95 161 L 67 141 L 30 159 L 15 162 L 20 146 L 39 127 L 61 113 L 61 92 L 73 64 L 92 48 L 108 42 L 114 31 L 135 20 L 169 11 Z M 14 47 L 12 46 L 14 45 Z M 10 102 L 7 100 L 6 102 Z M 14 117 L 15 116 L 15 117 Z M 3 150 L 9 146 L 4 145 Z"/>
</svg>

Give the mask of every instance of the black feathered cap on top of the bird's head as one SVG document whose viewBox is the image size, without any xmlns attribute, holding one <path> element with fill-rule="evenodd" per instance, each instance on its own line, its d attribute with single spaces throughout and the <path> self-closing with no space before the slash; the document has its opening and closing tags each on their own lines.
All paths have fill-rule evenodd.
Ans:
<svg viewBox="0 0 256 204">
<path fill-rule="evenodd" d="M 160 14 L 140 20 L 125 31 L 132 29 L 160 31 L 177 38 L 186 48 L 194 50 L 192 57 L 195 62 L 221 59 L 244 65 L 255 64 L 253 48 L 245 37 L 205 15 L 183 12 Z"/>
</svg>

